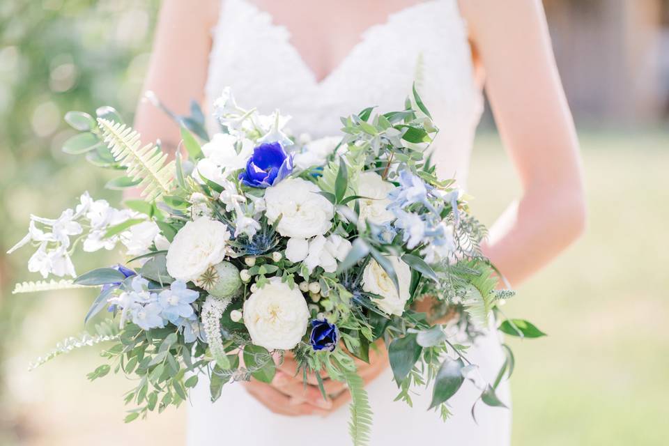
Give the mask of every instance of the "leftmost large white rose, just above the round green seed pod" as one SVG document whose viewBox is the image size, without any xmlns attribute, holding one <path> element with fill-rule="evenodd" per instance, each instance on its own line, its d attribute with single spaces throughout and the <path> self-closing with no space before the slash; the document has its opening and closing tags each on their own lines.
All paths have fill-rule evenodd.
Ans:
<svg viewBox="0 0 669 446">
<path fill-rule="evenodd" d="M 167 250 L 167 272 L 175 279 L 197 279 L 210 266 L 223 261 L 230 233 L 226 226 L 208 217 L 187 222 Z"/>
</svg>

